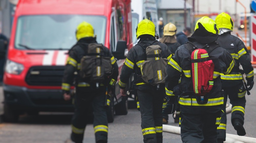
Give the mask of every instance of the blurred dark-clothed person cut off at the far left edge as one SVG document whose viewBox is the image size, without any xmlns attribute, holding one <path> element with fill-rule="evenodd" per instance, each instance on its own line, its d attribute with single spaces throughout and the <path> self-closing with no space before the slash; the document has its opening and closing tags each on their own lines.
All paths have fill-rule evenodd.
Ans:
<svg viewBox="0 0 256 143">
<path fill-rule="evenodd" d="M 4 75 L 4 63 L 5 63 L 5 58 L 6 58 L 6 50 L 7 50 L 7 45 L 8 45 L 8 39 L 7 37 L 2 34 L 2 30 L 0 29 L 0 40 L 3 40 L 3 46 L 4 49 L 3 51 L 0 51 L 0 82 L 3 81 L 3 75 Z"/>
</svg>

